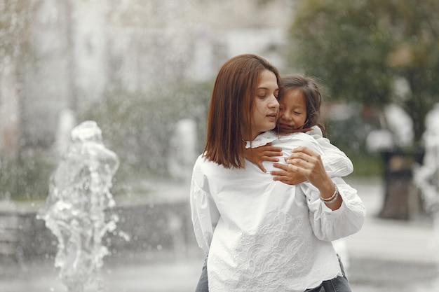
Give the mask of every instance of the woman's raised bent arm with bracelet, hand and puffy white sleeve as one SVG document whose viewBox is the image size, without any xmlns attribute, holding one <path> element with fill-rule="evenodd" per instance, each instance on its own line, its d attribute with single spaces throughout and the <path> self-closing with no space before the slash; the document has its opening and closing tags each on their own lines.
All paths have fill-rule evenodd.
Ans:
<svg viewBox="0 0 439 292">
<path fill-rule="evenodd" d="M 299 137 L 300 138 L 300 137 Z M 310 221 L 314 234 L 322 240 L 335 240 L 360 230 L 365 219 L 365 207 L 357 191 L 340 178 L 327 175 L 321 147 L 302 137 L 287 160 L 288 165 L 275 163 L 282 170 L 271 172 L 276 181 L 285 181 L 289 172 L 296 172 L 307 180 L 300 183 L 309 206 Z M 308 141 L 306 141 L 308 140 Z"/>
</svg>

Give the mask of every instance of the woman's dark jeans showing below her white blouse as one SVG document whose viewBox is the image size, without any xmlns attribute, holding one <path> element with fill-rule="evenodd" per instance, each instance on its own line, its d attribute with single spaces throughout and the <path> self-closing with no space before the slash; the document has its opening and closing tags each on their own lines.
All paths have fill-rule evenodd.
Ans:
<svg viewBox="0 0 439 292">
<path fill-rule="evenodd" d="M 305 292 L 351 292 L 342 260 L 339 258 L 340 267 L 342 268 L 343 276 L 339 276 L 334 279 L 323 281 L 320 286 L 312 289 L 307 289 Z M 208 258 L 205 258 L 203 269 L 201 270 L 201 276 L 196 285 L 195 292 L 209 292 L 208 285 Z"/>
</svg>

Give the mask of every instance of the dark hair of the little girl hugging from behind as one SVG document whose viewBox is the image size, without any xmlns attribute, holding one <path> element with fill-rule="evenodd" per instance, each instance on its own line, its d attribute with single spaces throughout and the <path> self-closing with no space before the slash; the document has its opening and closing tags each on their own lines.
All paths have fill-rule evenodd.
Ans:
<svg viewBox="0 0 439 292">
<path fill-rule="evenodd" d="M 320 127 L 323 137 L 326 137 L 326 127 L 320 117 L 320 106 L 322 95 L 320 85 L 315 78 L 302 76 L 300 74 L 285 74 L 281 76 L 283 94 L 288 90 L 299 89 L 305 97 L 306 102 L 306 123 L 303 128 L 310 128 L 314 125 Z"/>
</svg>

